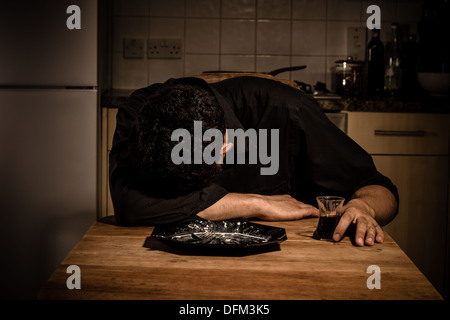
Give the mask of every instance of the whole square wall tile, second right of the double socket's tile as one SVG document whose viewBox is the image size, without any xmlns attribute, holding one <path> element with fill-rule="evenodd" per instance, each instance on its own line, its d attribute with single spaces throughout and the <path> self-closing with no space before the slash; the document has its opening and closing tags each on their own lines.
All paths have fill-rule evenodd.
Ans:
<svg viewBox="0 0 450 320">
<path fill-rule="evenodd" d="M 255 20 L 222 20 L 221 53 L 254 53 L 255 32 Z"/>
</svg>

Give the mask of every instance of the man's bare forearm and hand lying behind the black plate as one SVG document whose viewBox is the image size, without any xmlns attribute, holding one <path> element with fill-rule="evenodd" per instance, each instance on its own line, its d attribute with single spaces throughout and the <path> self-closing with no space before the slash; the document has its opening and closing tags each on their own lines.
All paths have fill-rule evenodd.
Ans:
<svg viewBox="0 0 450 320">
<path fill-rule="evenodd" d="M 268 221 L 298 220 L 317 217 L 317 208 L 304 204 L 290 195 L 265 196 L 229 193 L 212 206 L 197 214 L 208 220 L 259 218 Z"/>
</svg>

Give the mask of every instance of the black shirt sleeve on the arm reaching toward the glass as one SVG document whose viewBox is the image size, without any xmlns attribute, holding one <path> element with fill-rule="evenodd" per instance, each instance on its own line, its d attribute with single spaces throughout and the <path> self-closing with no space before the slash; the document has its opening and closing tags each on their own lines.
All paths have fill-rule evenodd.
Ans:
<svg viewBox="0 0 450 320">
<path fill-rule="evenodd" d="M 315 194 L 334 192 L 349 198 L 364 186 L 380 185 L 390 190 L 398 203 L 392 181 L 377 170 L 362 147 L 326 117 L 313 98 L 301 98 L 298 122 L 304 140 L 305 171 Z"/>
</svg>

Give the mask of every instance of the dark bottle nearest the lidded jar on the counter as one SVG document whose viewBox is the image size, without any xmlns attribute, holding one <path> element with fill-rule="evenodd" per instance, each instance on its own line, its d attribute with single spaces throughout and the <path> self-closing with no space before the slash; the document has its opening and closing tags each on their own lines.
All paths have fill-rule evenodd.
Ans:
<svg viewBox="0 0 450 320">
<path fill-rule="evenodd" d="M 384 45 L 379 29 L 373 29 L 367 48 L 367 95 L 369 98 L 380 97 L 384 91 Z"/>
</svg>

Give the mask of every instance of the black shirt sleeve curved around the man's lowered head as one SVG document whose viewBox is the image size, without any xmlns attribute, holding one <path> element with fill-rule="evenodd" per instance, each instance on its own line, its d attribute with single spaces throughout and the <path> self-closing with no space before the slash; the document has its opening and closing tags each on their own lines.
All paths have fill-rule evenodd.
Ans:
<svg viewBox="0 0 450 320">
<path fill-rule="evenodd" d="M 109 156 L 109 184 L 114 215 L 121 225 L 157 225 L 189 220 L 228 193 L 221 186 L 212 184 L 176 198 L 157 198 L 147 194 L 139 183 L 139 176 L 131 164 L 128 136 L 140 108 L 162 86 L 155 84 L 135 91 L 117 113 Z"/>
</svg>

